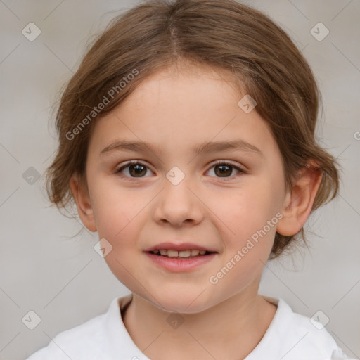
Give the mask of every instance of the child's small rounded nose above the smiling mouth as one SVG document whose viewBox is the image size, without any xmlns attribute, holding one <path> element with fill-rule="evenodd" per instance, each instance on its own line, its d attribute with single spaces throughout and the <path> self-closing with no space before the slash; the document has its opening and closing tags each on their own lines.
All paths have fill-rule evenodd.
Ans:
<svg viewBox="0 0 360 360">
<path fill-rule="evenodd" d="M 155 198 L 153 219 L 159 224 L 169 223 L 176 227 L 198 224 L 203 220 L 205 206 L 200 198 L 187 176 L 179 184 L 165 178 L 162 191 Z"/>
</svg>

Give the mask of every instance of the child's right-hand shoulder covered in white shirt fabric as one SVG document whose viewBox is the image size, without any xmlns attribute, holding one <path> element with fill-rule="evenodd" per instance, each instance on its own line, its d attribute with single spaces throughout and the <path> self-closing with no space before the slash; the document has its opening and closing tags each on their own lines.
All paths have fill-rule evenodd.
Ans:
<svg viewBox="0 0 360 360">
<path fill-rule="evenodd" d="M 348 359 L 317 316 L 316 319 L 311 319 L 297 314 L 281 298 L 264 298 L 276 304 L 278 309 L 264 337 L 246 360 L 265 354 L 268 355 L 267 359 Z"/>
</svg>

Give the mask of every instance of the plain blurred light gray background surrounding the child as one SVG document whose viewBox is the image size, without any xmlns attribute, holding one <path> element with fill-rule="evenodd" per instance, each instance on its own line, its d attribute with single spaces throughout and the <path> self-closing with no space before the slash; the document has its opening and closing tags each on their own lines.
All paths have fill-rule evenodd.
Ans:
<svg viewBox="0 0 360 360">
<path fill-rule="evenodd" d="M 323 94 L 317 133 L 344 168 L 339 197 L 307 223 L 311 251 L 269 262 L 259 292 L 309 317 L 323 311 L 338 345 L 360 357 L 360 1 L 247 3 L 276 20 L 309 60 Z M 86 41 L 113 11 L 135 4 L 0 0 L 0 359 L 25 359 L 129 293 L 94 251 L 97 233 L 70 238 L 81 222 L 49 207 L 42 178 L 28 181 L 29 172 L 42 174 L 50 164 L 56 138 L 49 110 Z M 34 41 L 22 34 L 30 22 L 41 30 Z M 330 31 L 322 41 L 310 32 L 319 22 Z M 41 318 L 34 330 L 22 322 L 30 310 Z"/>
</svg>

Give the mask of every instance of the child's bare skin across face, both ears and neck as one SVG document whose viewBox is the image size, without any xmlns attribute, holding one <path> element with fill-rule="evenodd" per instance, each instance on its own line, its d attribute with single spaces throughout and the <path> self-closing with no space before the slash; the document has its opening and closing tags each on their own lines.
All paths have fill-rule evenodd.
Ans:
<svg viewBox="0 0 360 360">
<path fill-rule="evenodd" d="M 244 95 L 221 70 L 155 73 L 96 120 L 86 162 L 88 190 L 76 174 L 70 180 L 82 222 L 113 246 L 105 261 L 134 294 L 122 319 L 150 359 L 243 359 L 276 313 L 276 306 L 258 295 L 264 264 L 276 231 L 293 235 L 309 217 L 321 174 L 303 169 L 293 189 L 285 191 L 276 141 L 256 108 L 245 113 L 238 106 Z M 158 148 L 101 155 L 120 138 Z M 191 151 L 200 143 L 233 139 L 248 141 L 263 155 Z M 117 172 L 128 160 L 146 166 L 142 175 L 131 167 Z M 246 172 L 230 167 L 221 176 L 216 160 Z M 174 166 L 185 174 L 177 185 L 166 177 Z M 210 276 L 279 212 L 283 218 L 276 226 L 217 284 L 210 283 Z M 218 253 L 197 269 L 176 273 L 143 252 L 163 241 L 192 242 Z M 172 312 L 184 320 L 179 328 L 167 322 Z"/>
</svg>

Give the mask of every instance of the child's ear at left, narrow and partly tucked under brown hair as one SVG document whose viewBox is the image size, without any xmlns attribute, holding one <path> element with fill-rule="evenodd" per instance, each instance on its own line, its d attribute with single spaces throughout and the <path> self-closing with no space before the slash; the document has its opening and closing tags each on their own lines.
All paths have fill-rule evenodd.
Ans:
<svg viewBox="0 0 360 360">
<path fill-rule="evenodd" d="M 72 195 L 75 198 L 77 212 L 82 220 L 82 223 L 90 231 L 96 231 L 96 224 L 94 219 L 94 211 L 91 207 L 89 191 L 84 184 L 84 181 L 79 180 L 77 174 L 73 174 L 70 178 L 70 188 Z"/>
</svg>

